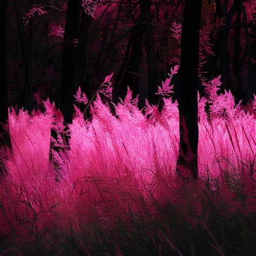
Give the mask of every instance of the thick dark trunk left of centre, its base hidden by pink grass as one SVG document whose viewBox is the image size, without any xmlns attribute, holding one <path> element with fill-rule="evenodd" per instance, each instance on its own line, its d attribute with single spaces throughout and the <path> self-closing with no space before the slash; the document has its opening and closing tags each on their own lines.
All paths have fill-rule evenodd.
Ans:
<svg viewBox="0 0 256 256">
<path fill-rule="evenodd" d="M 81 0 L 69 0 L 63 44 L 62 89 L 60 110 L 66 123 L 72 122 L 73 103 L 77 83 L 76 42 L 78 39 Z"/>
</svg>

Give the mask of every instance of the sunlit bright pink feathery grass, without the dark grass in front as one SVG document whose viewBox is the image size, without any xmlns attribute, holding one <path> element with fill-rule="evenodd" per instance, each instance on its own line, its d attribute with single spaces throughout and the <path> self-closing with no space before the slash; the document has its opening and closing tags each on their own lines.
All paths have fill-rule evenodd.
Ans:
<svg viewBox="0 0 256 256">
<path fill-rule="evenodd" d="M 177 70 L 176 66 L 167 79 Z M 111 78 L 112 74 L 103 84 L 111 86 Z M 169 96 L 168 86 L 161 95 L 168 93 Z M 255 178 L 250 170 L 255 160 L 254 116 L 235 105 L 230 92 L 218 94 L 219 86 L 220 77 L 205 82 L 207 99 L 198 96 L 199 183 L 215 179 L 223 184 L 220 198 L 211 198 L 222 214 L 237 211 L 250 214 L 255 211 L 251 181 L 244 179 L 242 193 L 247 197 L 241 205 L 221 177 L 251 175 Z M 88 104 L 80 88 L 75 98 L 79 103 Z M 206 118 L 207 101 L 211 105 L 211 122 Z M 200 221 L 204 223 L 207 211 L 194 197 L 194 193 L 200 191 L 194 189 L 189 198 L 177 199 L 177 191 L 181 193 L 174 178 L 179 154 L 178 103 L 171 98 L 164 98 L 164 103 L 160 113 L 147 102 L 143 114 L 138 109 L 138 97 L 133 98 L 129 89 L 125 100 L 114 106 L 116 118 L 97 93 L 90 106 L 91 122 L 85 120 L 75 106 L 76 114 L 67 132 L 69 147 L 63 137 L 62 113 L 49 99 L 44 102 L 44 113 L 33 112 L 30 116 L 23 110 L 18 114 L 10 111 L 12 152 L 4 156 L 8 175 L 4 186 L 0 185 L 1 205 L 6 213 L 3 216 L 0 211 L 0 235 L 15 230 L 22 243 L 29 232 L 33 233 L 35 225 L 42 234 L 45 230 L 56 231 L 56 227 L 59 231 L 69 232 L 73 228 L 88 232 L 86 225 L 93 221 L 104 223 L 104 228 L 108 228 L 116 216 L 127 220 L 127 216 L 142 211 L 143 207 L 150 208 L 154 214 L 156 201 L 160 205 L 170 201 L 183 207 L 186 200 L 190 200 L 190 212 L 184 209 L 186 218 L 194 226 Z M 229 118 L 223 115 L 224 107 Z M 55 139 L 51 138 L 51 129 L 57 132 Z M 57 150 L 51 149 L 51 142 Z M 191 152 L 190 158 L 193 157 Z M 183 174 L 190 173 L 183 170 Z M 214 191 L 214 185 L 210 186 Z M 20 218 L 15 218 L 15 214 Z"/>
</svg>

